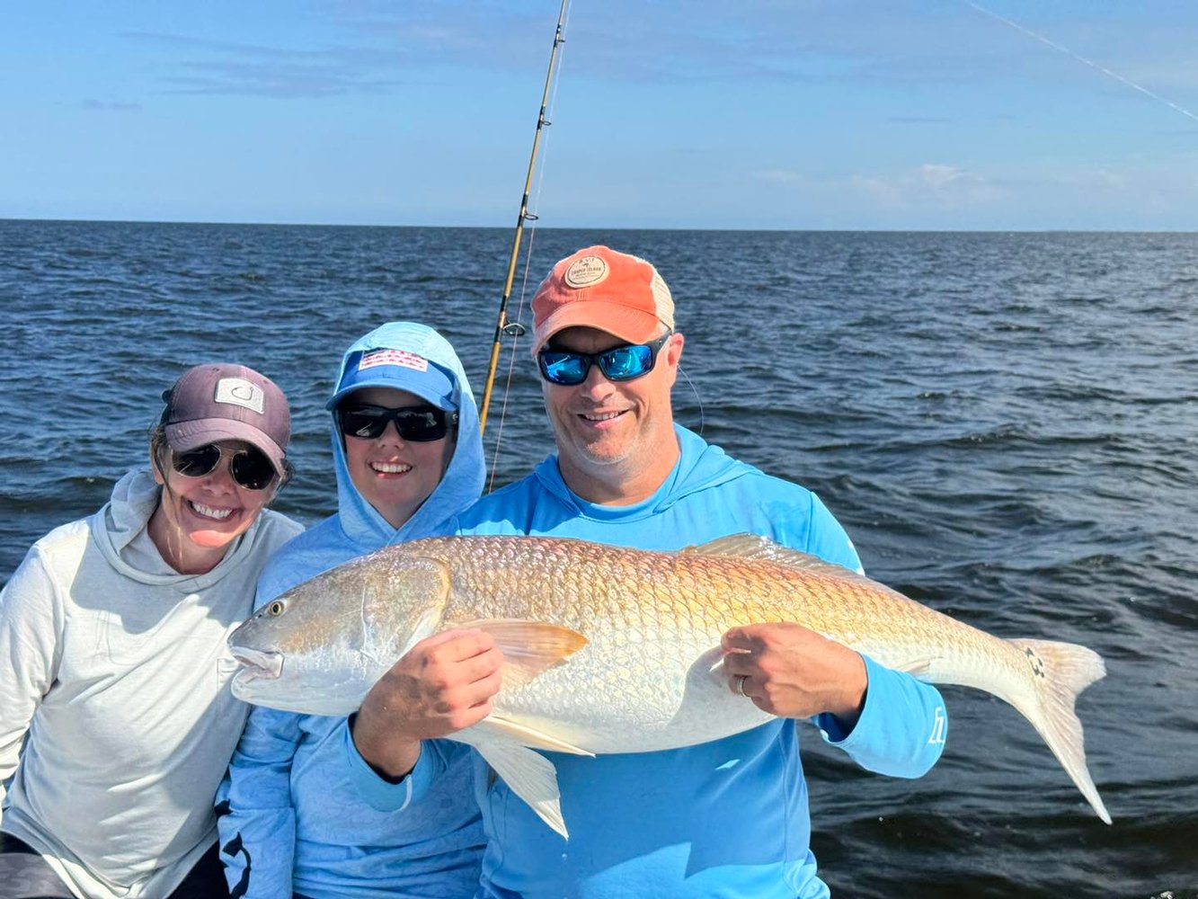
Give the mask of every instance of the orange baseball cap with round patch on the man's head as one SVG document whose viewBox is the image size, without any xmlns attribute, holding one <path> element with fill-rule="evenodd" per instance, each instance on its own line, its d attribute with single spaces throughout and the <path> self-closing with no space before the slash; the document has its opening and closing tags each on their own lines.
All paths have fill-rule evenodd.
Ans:
<svg viewBox="0 0 1198 899">
<path fill-rule="evenodd" d="M 640 257 L 587 247 L 553 266 L 532 298 L 533 352 L 567 327 L 595 327 L 629 343 L 673 330 L 673 297 Z"/>
</svg>

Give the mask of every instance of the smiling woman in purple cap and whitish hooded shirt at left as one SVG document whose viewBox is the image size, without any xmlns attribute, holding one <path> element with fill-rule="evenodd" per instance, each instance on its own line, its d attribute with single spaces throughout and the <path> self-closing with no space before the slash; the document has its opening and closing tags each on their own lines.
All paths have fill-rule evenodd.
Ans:
<svg viewBox="0 0 1198 899">
<path fill-rule="evenodd" d="M 302 530 L 264 511 L 290 414 L 243 366 L 196 366 L 163 399 L 150 470 L 35 543 L 0 593 L 5 899 L 226 895 L 212 797 L 247 706 L 225 640 Z"/>
</svg>

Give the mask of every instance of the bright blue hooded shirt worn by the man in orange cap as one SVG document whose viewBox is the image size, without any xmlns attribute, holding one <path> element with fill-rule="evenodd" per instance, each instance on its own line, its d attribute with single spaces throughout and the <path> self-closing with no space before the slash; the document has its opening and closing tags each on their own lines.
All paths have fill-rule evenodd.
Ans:
<svg viewBox="0 0 1198 899">
<path fill-rule="evenodd" d="M 464 512 L 460 533 L 553 535 L 641 549 L 679 549 L 737 532 L 760 533 L 859 568 L 857 551 L 819 499 L 725 455 L 676 428 L 682 455 L 666 482 L 631 506 L 597 506 L 562 481 L 550 457 Z M 939 758 L 944 704 L 934 687 L 866 658 L 869 692 L 849 734 L 831 716 L 823 738 L 870 771 L 919 777 Z M 805 725 L 776 719 L 725 740 L 659 753 L 587 759 L 545 753 L 557 767 L 567 843 L 479 760 L 486 827 L 480 895 L 816 899 L 828 887 L 809 843 L 799 760 Z M 361 782 L 383 802 L 395 788 Z M 846 788 L 847 789 L 847 788 Z"/>
</svg>

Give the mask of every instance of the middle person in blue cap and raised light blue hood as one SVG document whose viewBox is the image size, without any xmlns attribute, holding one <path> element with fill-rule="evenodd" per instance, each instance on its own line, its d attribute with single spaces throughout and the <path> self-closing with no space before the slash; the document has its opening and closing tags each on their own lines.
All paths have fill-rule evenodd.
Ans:
<svg viewBox="0 0 1198 899">
<path fill-rule="evenodd" d="M 392 322 L 363 337 L 327 408 L 338 512 L 271 560 L 259 605 L 364 553 L 443 532 L 482 491 L 474 398 L 436 331 Z M 483 833 L 467 748 L 429 746 L 437 777 L 413 772 L 399 813 L 374 809 L 352 780 L 364 762 L 345 718 L 255 707 L 219 823 L 232 895 L 473 895 Z"/>
</svg>

